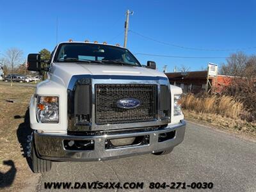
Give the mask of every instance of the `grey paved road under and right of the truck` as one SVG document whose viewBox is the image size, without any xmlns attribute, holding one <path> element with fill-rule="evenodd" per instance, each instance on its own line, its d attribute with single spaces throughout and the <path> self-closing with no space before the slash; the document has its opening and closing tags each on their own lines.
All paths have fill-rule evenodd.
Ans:
<svg viewBox="0 0 256 192">
<path fill-rule="evenodd" d="M 148 154 L 105 162 L 54 163 L 51 172 L 42 175 L 37 190 L 45 190 L 44 182 L 97 180 L 145 182 L 145 185 L 149 182 L 213 182 L 211 191 L 256 191 L 256 143 L 188 123 L 184 142 L 175 147 L 172 154 Z"/>
</svg>

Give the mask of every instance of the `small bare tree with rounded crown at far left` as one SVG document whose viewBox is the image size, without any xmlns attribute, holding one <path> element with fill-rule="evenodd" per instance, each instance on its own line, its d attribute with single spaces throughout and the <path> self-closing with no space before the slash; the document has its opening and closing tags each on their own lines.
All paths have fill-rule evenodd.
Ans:
<svg viewBox="0 0 256 192">
<path fill-rule="evenodd" d="M 17 48 L 11 48 L 6 51 L 4 56 L 5 63 L 8 67 L 12 68 L 12 75 L 13 75 L 13 68 L 20 64 L 22 61 L 23 52 Z M 12 86 L 12 77 L 11 77 L 11 86 Z"/>
</svg>

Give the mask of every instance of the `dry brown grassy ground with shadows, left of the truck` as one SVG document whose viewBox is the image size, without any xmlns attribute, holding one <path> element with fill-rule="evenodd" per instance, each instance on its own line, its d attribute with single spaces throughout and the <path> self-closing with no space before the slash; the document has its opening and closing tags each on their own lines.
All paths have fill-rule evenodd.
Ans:
<svg viewBox="0 0 256 192">
<path fill-rule="evenodd" d="M 0 191 L 31 191 L 40 177 L 31 172 L 24 155 L 31 133 L 28 104 L 34 91 L 18 84 L 0 84 Z"/>
</svg>

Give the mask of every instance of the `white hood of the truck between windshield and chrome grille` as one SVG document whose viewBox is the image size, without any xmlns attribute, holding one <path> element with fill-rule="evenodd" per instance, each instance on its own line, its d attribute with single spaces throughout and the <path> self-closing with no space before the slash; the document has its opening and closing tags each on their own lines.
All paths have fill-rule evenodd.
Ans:
<svg viewBox="0 0 256 192">
<path fill-rule="evenodd" d="M 145 67 L 102 65 L 98 63 L 52 63 L 49 79 L 67 87 L 71 77 L 74 75 L 166 77 L 163 72 Z"/>
</svg>

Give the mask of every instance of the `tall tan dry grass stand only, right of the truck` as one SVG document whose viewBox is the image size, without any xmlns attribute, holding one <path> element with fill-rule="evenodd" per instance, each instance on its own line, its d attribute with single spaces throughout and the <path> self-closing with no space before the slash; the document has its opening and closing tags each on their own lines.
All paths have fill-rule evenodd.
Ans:
<svg viewBox="0 0 256 192">
<path fill-rule="evenodd" d="M 193 94 L 188 94 L 182 98 L 181 102 L 184 109 L 197 113 L 211 113 L 230 118 L 239 118 L 242 113 L 245 113 L 243 103 L 237 102 L 234 98 L 226 95 L 195 97 Z"/>
</svg>

